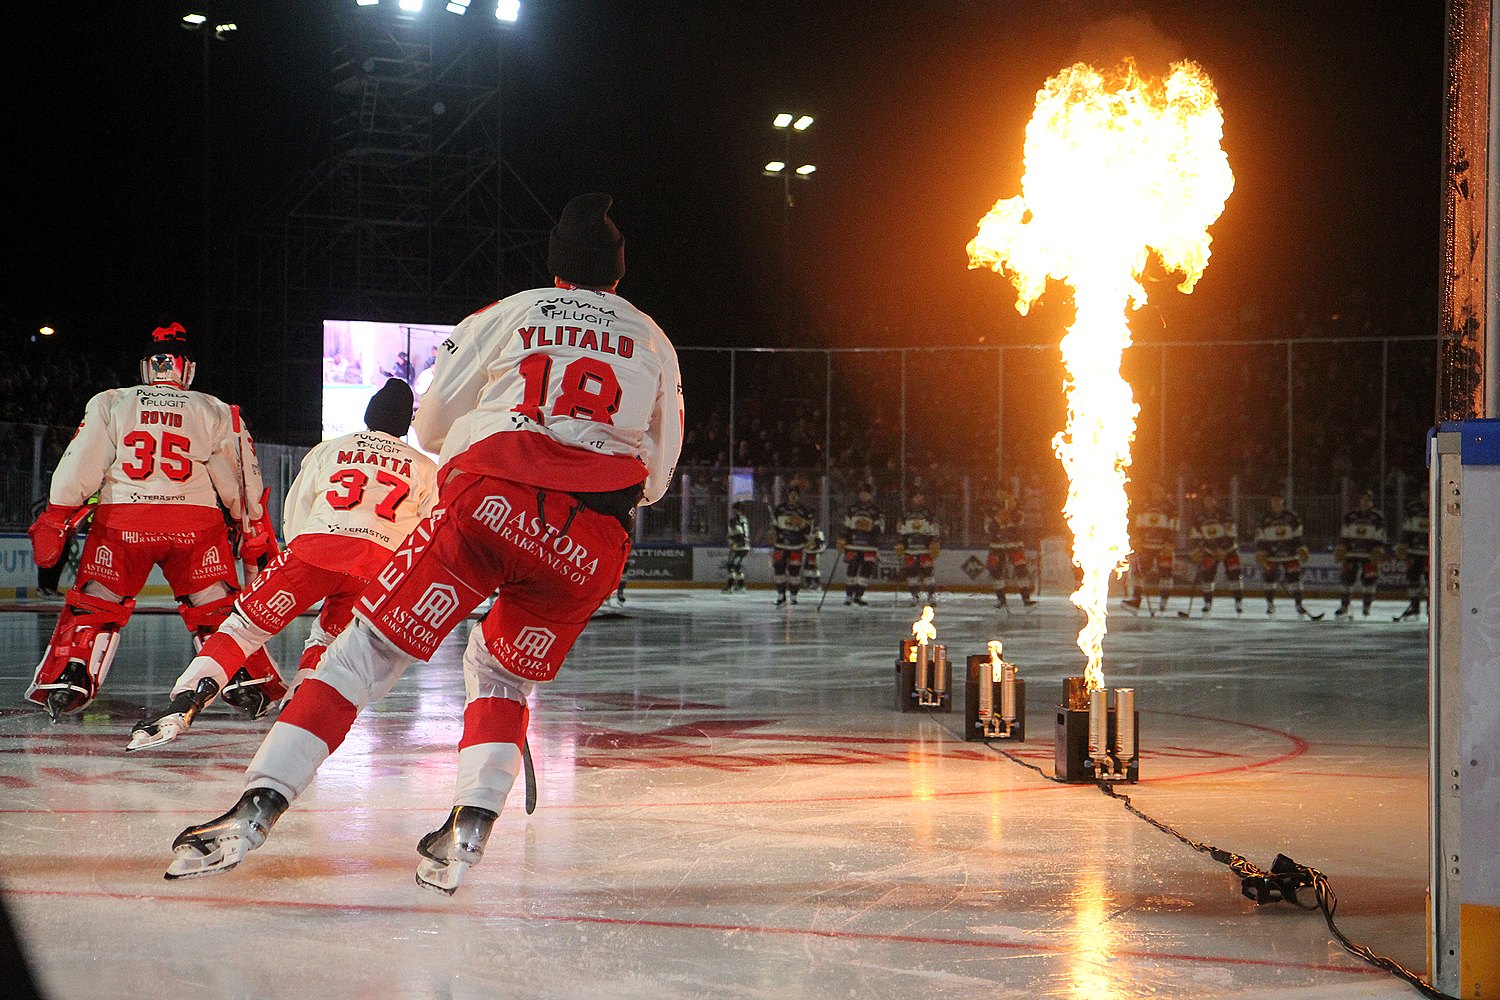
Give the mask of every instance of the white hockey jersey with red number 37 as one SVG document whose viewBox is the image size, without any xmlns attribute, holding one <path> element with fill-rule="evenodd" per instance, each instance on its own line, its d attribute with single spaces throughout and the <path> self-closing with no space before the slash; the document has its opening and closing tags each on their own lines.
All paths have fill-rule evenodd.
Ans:
<svg viewBox="0 0 1500 1000">
<path fill-rule="evenodd" d="M 286 543 L 344 535 L 394 550 L 438 498 L 438 466 L 382 430 L 324 441 L 303 460 L 282 513 Z"/>
</svg>

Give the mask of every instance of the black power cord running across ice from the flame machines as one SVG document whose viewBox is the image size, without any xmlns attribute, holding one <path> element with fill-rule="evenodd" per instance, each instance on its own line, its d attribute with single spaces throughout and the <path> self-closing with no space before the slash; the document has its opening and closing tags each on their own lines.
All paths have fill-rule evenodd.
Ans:
<svg viewBox="0 0 1500 1000">
<path fill-rule="evenodd" d="M 1072 784 L 1064 781 L 1058 775 L 1047 774 L 1029 760 L 1022 760 L 1016 754 L 996 747 L 990 741 L 984 741 L 984 745 L 1005 757 L 1006 760 L 1017 763 L 1029 771 L 1035 771 L 1042 778 L 1054 781 L 1058 784 Z M 1191 840 L 1178 829 L 1162 823 L 1161 820 L 1142 813 L 1130 801 L 1128 795 L 1114 790 L 1114 786 L 1108 781 L 1096 783 L 1100 792 L 1116 799 L 1125 807 L 1125 811 L 1131 816 L 1150 823 L 1162 834 L 1174 837 L 1196 852 L 1204 853 L 1218 864 L 1227 867 L 1236 876 L 1239 876 L 1239 891 L 1246 900 L 1252 900 L 1257 906 L 1264 906 L 1268 903 L 1290 903 L 1304 910 L 1318 910 L 1323 913 L 1323 922 L 1328 924 L 1329 933 L 1334 939 L 1344 948 L 1346 952 L 1354 958 L 1382 969 L 1398 979 L 1404 979 L 1424 997 L 1432 997 L 1434 1000 L 1461 1000 L 1452 994 L 1443 993 L 1436 987 L 1430 985 L 1414 972 L 1395 961 L 1394 958 L 1386 958 L 1384 955 L 1377 955 L 1364 945 L 1356 945 L 1348 940 L 1348 937 L 1338 930 L 1334 922 L 1334 913 L 1338 910 L 1338 897 L 1334 894 L 1334 886 L 1329 885 L 1328 876 L 1324 876 L 1317 868 L 1308 868 L 1306 865 L 1299 865 L 1286 855 L 1276 855 L 1276 861 L 1272 862 L 1270 871 L 1263 871 L 1246 861 L 1244 856 L 1233 852 L 1221 850 L 1212 844 L 1204 844 L 1202 841 Z"/>
</svg>

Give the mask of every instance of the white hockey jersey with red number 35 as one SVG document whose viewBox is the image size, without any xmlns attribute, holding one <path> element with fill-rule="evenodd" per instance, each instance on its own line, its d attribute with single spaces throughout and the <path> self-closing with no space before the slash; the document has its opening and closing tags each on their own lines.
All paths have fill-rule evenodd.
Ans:
<svg viewBox="0 0 1500 1000">
<path fill-rule="evenodd" d="M 129 385 L 88 400 L 52 472 L 51 502 L 81 507 L 98 492 L 102 508 L 129 505 L 116 511 L 117 523 L 128 516 L 138 528 L 201 528 L 219 519 L 220 501 L 238 520 L 242 495 L 255 520 L 262 490 L 255 448 L 236 433 L 228 405 L 192 390 Z"/>
</svg>

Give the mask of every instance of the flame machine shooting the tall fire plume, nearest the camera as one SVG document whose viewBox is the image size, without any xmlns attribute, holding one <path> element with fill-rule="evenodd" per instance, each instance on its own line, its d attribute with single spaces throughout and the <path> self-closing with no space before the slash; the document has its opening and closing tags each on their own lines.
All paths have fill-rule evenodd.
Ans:
<svg viewBox="0 0 1500 1000">
<path fill-rule="evenodd" d="M 1064 781 L 1140 780 L 1140 712 L 1134 688 L 1088 691 L 1083 678 L 1064 681 L 1058 706 L 1054 766 Z"/>
</svg>

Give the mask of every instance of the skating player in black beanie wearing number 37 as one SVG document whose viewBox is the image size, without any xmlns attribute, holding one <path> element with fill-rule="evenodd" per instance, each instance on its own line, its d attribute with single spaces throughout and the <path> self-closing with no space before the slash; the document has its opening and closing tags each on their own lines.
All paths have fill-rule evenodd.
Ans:
<svg viewBox="0 0 1500 1000">
<path fill-rule="evenodd" d="M 126 750 L 160 747 L 188 732 L 250 655 L 322 601 L 292 687 L 316 669 L 354 618 L 354 598 L 436 501 L 438 466 L 402 441 L 411 403 L 411 387 L 393 378 L 364 409 L 369 430 L 324 441 L 303 457 L 284 508 L 286 549 L 172 684 L 166 711 L 130 730 Z"/>
</svg>

